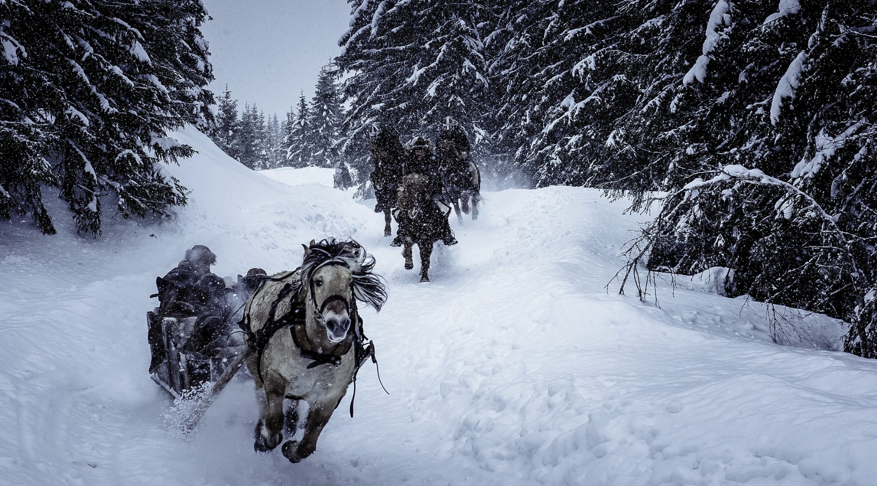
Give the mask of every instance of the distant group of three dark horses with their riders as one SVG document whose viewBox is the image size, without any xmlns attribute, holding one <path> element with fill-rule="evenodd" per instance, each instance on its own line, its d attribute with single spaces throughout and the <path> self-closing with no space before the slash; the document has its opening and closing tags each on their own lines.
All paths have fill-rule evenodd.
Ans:
<svg viewBox="0 0 877 486">
<path fill-rule="evenodd" d="M 408 150 L 398 133 L 381 125 L 369 132 L 374 171 L 370 180 L 377 204 L 384 213 L 384 236 L 392 236 L 390 216 L 396 218 L 396 238 L 390 243 L 403 247 L 405 268 L 414 268 L 413 246 L 420 254 L 420 282 L 429 282 L 432 245 L 442 241 L 457 244 L 448 216 L 451 207 L 462 223 L 460 211 L 478 218 L 481 202 L 481 174 L 469 157 L 470 146 L 462 128 L 446 118 L 433 146 L 422 137 L 413 139 Z"/>
</svg>

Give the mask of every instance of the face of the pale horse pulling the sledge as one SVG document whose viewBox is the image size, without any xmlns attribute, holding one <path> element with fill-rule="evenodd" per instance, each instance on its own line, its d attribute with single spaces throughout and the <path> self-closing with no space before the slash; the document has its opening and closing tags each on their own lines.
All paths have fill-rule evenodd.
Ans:
<svg viewBox="0 0 877 486">
<path fill-rule="evenodd" d="M 350 332 L 353 304 L 353 275 L 340 265 L 317 268 L 311 277 L 313 303 L 317 306 L 325 337 L 332 343 L 346 339 Z"/>
</svg>

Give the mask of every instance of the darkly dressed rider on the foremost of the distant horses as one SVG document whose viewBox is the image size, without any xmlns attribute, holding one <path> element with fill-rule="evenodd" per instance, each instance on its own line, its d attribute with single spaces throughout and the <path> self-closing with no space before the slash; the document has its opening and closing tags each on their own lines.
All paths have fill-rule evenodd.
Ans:
<svg viewBox="0 0 877 486">
<path fill-rule="evenodd" d="M 441 182 L 441 174 L 439 173 L 439 163 L 432 150 L 432 144 L 429 140 L 417 137 L 413 140 L 408 161 L 405 163 L 405 175 L 417 174 L 425 178 L 427 183 L 427 192 L 431 199 L 431 204 L 427 204 L 424 208 L 424 220 L 429 220 L 433 225 L 439 226 L 436 230 L 439 232 L 439 239 L 447 246 L 456 245 L 457 239 L 453 236 L 451 225 L 447 220 L 447 213 L 439 207 L 439 200 L 443 195 L 443 186 Z M 450 211 L 448 209 L 448 211 Z M 396 232 L 396 238 L 390 242 L 390 246 L 401 247 L 406 238 L 414 239 L 414 228 L 411 227 L 411 221 L 408 218 L 397 219 L 399 229 Z"/>
</svg>

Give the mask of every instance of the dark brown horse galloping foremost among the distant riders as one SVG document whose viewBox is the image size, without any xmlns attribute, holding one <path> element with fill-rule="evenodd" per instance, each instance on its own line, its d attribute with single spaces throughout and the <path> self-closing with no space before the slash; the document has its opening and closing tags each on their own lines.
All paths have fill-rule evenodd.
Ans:
<svg viewBox="0 0 877 486">
<path fill-rule="evenodd" d="M 405 175 L 396 206 L 393 215 L 399 224 L 405 268 L 414 268 L 413 246 L 417 245 L 420 253 L 420 282 L 429 282 L 432 244 L 442 239 L 451 208 L 432 200 L 431 183 L 420 174 Z"/>
</svg>

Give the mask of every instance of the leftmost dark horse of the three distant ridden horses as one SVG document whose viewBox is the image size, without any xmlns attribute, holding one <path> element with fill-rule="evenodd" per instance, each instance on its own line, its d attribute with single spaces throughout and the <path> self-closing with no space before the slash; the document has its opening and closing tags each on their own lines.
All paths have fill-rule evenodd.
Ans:
<svg viewBox="0 0 877 486">
<path fill-rule="evenodd" d="M 396 189 L 402 183 L 405 148 L 399 141 L 399 135 L 389 129 L 375 126 L 370 136 L 374 171 L 369 178 L 377 199 L 374 212 L 384 213 L 384 236 L 390 236 L 393 234 L 390 211 L 396 207 Z"/>
</svg>

